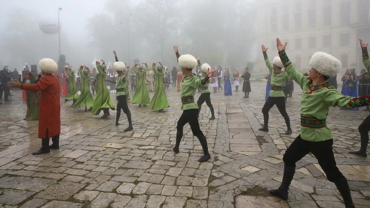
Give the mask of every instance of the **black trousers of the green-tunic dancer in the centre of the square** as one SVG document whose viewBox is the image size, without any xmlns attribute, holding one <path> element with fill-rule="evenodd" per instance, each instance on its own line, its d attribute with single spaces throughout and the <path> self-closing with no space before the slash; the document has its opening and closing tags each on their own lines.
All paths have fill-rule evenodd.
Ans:
<svg viewBox="0 0 370 208">
<path fill-rule="evenodd" d="M 177 133 L 176 133 L 176 147 L 180 145 L 180 141 L 183 135 L 183 126 L 189 123 L 190 128 L 192 129 L 193 135 L 199 139 L 200 144 L 202 145 L 204 153 L 208 154 L 208 145 L 203 132 L 200 130 L 199 122 L 197 118 L 198 109 L 189 109 L 184 110 L 181 114 L 181 117 L 177 121 Z"/>
</svg>

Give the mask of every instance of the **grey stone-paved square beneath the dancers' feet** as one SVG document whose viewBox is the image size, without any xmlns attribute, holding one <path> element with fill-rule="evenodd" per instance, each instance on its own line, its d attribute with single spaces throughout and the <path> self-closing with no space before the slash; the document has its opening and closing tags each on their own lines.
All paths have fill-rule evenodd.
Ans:
<svg viewBox="0 0 370 208">
<path fill-rule="evenodd" d="M 164 112 L 129 103 L 134 131 L 127 133 L 125 114 L 115 126 L 115 111 L 102 119 L 61 96 L 61 148 L 38 156 L 30 154 L 41 143 L 38 121 L 23 120 L 27 107 L 20 91 L 12 91 L 12 101 L 0 106 L 0 207 L 344 207 L 312 155 L 297 163 L 286 202 L 269 195 L 282 178 L 282 154 L 299 134 L 302 91 L 295 85 L 288 98 L 293 135 L 286 136 L 276 107 L 270 132 L 258 131 L 265 89 L 253 82 L 248 99 L 240 91 L 212 93 L 216 120 L 208 120 L 206 106 L 199 120 L 212 155 L 205 163 L 197 162 L 202 148 L 189 125 L 180 153 L 172 151 L 181 114 L 175 88 L 167 90 L 171 107 Z M 370 206 L 370 159 L 347 152 L 359 148 L 357 126 L 367 115 L 332 108 L 328 117 L 336 162 L 356 207 Z"/>
</svg>

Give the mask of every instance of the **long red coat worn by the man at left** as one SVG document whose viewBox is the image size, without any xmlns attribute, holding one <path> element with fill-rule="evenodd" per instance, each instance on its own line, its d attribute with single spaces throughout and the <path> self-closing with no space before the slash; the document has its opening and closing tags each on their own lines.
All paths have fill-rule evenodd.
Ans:
<svg viewBox="0 0 370 208">
<path fill-rule="evenodd" d="M 22 85 L 23 90 L 40 91 L 39 138 L 60 134 L 60 84 L 57 77 L 46 74 L 36 84 Z"/>
</svg>

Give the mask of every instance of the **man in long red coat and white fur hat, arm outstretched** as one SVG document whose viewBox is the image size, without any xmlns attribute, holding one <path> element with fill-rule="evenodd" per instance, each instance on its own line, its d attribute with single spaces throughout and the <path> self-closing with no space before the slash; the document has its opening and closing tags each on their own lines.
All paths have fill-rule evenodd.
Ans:
<svg viewBox="0 0 370 208">
<path fill-rule="evenodd" d="M 57 77 L 53 75 L 58 70 L 57 63 L 52 59 L 41 59 L 39 62 L 42 77 L 36 84 L 22 84 L 10 82 L 9 86 L 27 91 L 40 91 L 39 111 L 39 138 L 41 148 L 32 154 L 49 153 L 50 149 L 59 149 L 60 135 L 60 84 Z M 49 146 L 51 137 L 52 145 Z"/>
</svg>

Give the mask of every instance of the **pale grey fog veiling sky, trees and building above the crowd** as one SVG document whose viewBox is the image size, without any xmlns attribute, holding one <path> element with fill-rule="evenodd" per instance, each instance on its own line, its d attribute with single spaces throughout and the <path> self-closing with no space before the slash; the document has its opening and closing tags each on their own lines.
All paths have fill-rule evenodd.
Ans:
<svg viewBox="0 0 370 208">
<path fill-rule="evenodd" d="M 97 59 L 113 63 L 113 50 L 129 65 L 138 58 L 149 64 L 161 61 L 171 68 L 177 65 L 173 54 L 177 44 L 180 54 L 199 55 L 202 63 L 211 66 L 249 66 L 252 72 L 266 72 L 260 44 L 270 47 L 270 57 L 276 56 L 276 37 L 288 41 L 287 50 L 295 56 L 292 62 L 302 70 L 309 67 L 315 51 L 333 54 L 344 63 L 343 68 L 360 68 L 357 38 L 370 41 L 367 0 L 0 2 L 0 62 L 10 69 L 37 64 L 45 57 L 58 61 L 58 33 L 45 34 L 39 28 L 40 19 L 58 19 L 58 8 L 62 8 L 61 54 L 75 68 Z"/>
</svg>

